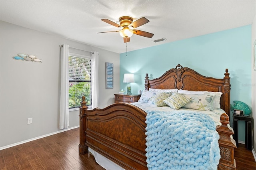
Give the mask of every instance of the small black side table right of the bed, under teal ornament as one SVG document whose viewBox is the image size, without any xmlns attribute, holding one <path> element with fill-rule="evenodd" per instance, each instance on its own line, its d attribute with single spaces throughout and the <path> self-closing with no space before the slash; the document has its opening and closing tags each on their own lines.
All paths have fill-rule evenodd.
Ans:
<svg viewBox="0 0 256 170">
<path fill-rule="evenodd" d="M 238 121 L 245 121 L 245 146 L 247 150 L 252 150 L 252 117 L 234 115 L 234 140 L 238 147 Z"/>
</svg>

